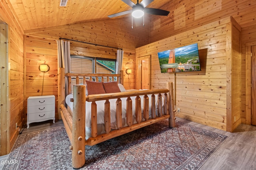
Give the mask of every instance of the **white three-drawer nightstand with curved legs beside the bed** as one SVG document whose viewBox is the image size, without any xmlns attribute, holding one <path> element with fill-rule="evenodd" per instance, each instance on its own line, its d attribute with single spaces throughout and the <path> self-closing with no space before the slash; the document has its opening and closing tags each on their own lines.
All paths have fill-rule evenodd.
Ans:
<svg viewBox="0 0 256 170">
<path fill-rule="evenodd" d="M 55 96 L 30 96 L 28 97 L 27 128 L 32 122 L 52 119 L 55 123 Z"/>
</svg>

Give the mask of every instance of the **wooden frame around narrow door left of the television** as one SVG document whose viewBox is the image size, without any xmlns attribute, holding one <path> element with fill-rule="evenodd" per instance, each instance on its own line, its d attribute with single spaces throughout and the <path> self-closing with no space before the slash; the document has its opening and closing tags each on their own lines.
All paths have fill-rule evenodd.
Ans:
<svg viewBox="0 0 256 170">
<path fill-rule="evenodd" d="M 136 78 L 135 78 L 135 87 L 136 89 L 141 89 L 141 67 L 142 67 L 142 60 L 148 59 L 148 86 L 151 89 L 151 55 L 146 55 L 142 57 L 136 58 Z"/>
</svg>

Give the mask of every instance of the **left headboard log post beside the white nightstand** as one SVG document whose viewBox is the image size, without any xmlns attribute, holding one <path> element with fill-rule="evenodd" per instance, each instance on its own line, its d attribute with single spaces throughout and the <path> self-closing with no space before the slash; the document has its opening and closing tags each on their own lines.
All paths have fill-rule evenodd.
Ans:
<svg viewBox="0 0 256 170">
<path fill-rule="evenodd" d="M 61 120 L 60 105 L 65 105 L 65 68 L 58 68 L 58 120 Z"/>
</svg>

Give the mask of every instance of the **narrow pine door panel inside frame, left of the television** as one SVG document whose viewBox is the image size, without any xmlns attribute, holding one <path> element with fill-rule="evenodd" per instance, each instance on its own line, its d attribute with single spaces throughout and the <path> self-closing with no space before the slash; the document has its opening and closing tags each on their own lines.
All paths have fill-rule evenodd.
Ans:
<svg viewBox="0 0 256 170">
<path fill-rule="evenodd" d="M 141 61 L 141 88 L 150 89 L 149 87 L 149 62 L 148 59 Z"/>
</svg>

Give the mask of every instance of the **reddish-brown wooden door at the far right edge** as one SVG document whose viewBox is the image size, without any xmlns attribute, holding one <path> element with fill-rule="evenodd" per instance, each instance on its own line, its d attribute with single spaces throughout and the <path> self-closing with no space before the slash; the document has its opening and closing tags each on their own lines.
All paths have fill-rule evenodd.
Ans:
<svg viewBox="0 0 256 170">
<path fill-rule="evenodd" d="M 252 125 L 256 125 L 256 45 L 252 46 Z"/>
</svg>

